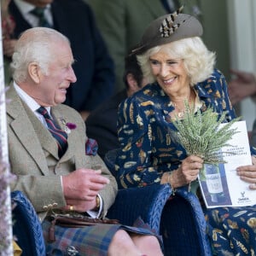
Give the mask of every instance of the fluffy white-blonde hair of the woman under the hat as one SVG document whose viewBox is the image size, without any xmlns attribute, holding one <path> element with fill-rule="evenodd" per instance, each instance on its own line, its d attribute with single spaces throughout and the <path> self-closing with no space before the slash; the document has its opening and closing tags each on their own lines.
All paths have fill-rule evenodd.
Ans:
<svg viewBox="0 0 256 256">
<path fill-rule="evenodd" d="M 148 49 L 144 54 L 137 55 L 137 61 L 142 67 L 143 76 L 149 83 L 154 83 L 149 58 L 160 50 L 164 50 L 173 59 L 183 60 L 184 68 L 193 86 L 207 79 L 213 72 L 216 61 L 214 52 L 207 49 L 201 38 L 183 38 L 169 44 L 162 44 Z"/>
</svg>

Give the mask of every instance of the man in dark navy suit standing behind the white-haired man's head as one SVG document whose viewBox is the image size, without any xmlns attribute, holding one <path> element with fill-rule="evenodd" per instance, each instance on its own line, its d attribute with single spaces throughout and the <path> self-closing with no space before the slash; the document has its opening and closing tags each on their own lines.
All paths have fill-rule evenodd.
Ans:
<svg viewBox="0 0 256 256">
<path fill-rule="evenodd" d="M 86 3 L 81 0 L 11 0 L 9 15 L 15 21 L 15 30 L 10 39 L 3 40 L 6 58 L 13 54 L 20 32 L 31 27 L 49 26 L 70 40 L 78 80 L 67 90 L 65 103 L 79 111 L 84 119 L 113 95 L 113 61 Z"/>
</svg>

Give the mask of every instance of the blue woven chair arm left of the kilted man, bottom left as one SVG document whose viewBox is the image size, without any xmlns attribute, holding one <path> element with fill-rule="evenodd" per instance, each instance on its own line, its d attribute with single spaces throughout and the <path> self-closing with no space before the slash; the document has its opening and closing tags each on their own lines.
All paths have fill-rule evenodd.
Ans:
<svg viewBox="0 0 256 256">
<path fill-rule="evenodd" d="M 43 230 L 32 204 L 20 191 L 11 193 L 13 234 L 22 249 L 22 256 L 45 256 Z"/>
</svg>

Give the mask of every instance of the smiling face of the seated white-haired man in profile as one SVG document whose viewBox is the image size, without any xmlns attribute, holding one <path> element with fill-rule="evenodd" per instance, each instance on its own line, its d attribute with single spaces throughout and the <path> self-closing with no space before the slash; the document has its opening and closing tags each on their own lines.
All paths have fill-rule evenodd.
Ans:
<svg viewBox="0 0 256 256">
<path fill-rule="evenodd" d="M 33 97 L 41 106 L 55 106 L 66 100 L 67 88 L 77 78 L 73 72 L 73 54 L 67 42 L 56 42 L 48 73 L 34 86 Z"/>
</svg>

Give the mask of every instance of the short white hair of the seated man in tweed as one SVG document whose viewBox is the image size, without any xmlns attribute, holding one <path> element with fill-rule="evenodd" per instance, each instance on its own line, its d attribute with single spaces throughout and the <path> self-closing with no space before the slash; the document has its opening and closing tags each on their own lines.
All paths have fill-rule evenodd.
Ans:
<svg viewBox="0 0 256 256">
<path fill-rule="evenodd" d="M 10 64 L 13 79 L 16 82 L 24 82 L 27 67 L 32 62 L 37 62 L 42 72 L 47 74 L 49 63 L 55 56 L 52 45 L 60 41 L 70 44 L 60 32 L 47 27 L 33 27 L 23 32 L 15 45 Z"/>
</svg>

